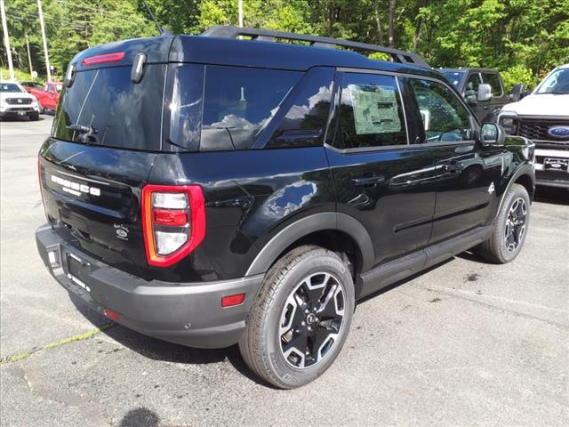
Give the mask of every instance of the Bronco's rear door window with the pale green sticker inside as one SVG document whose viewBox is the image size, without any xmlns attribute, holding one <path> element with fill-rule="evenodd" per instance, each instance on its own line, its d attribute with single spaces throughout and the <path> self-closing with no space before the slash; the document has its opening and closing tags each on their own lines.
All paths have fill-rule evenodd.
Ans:
<svg viewBox="0 0 569 427">
<path fill-rule="evenodd" d="M 405 117 L 395 77 L 345 74 L 334 145 L 355 149 L 406 143 Z"/>
</svg>

